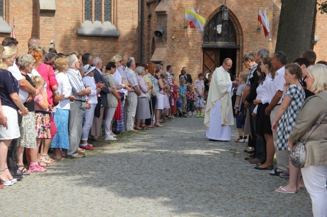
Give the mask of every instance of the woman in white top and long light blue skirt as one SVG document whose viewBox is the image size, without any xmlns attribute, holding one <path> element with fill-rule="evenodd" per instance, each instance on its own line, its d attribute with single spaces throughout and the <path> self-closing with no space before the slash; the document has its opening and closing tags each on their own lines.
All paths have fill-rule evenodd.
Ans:
<svg viewBox="0 0 327 217">
<path fill-rule="evenodd" d="M 68 63 L 66 58 L 57 58 L 55 60 L 58 73 L 56 74 L 56 79 L 58 82 L 57 94 L 63 95 L 64 100 L 60 101 L 56 106 L 56 112 L 53 113 L 54 122 L 57 127 L 57 133 L 53 137 L 50 148 L 53 148 L 53 157 L 56 160 L 63 160 L 64 158 L 60 156 L 60 148 L 69 148 L 69 138 L 68 138 L 68 116 L 70 109 L 70 101 L 74 101 L 75 97 L 71 96 L 71 86 L 68 81 L 68 76 L 65 72 L 68 69 Z"/>
</svg>

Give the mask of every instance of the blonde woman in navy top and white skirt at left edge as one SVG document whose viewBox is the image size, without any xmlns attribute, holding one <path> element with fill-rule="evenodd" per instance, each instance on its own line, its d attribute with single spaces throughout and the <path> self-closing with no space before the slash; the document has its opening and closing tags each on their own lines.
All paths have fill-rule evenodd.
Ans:
<svg viewBox="0 0 327 217">
<path fill-rule="evenodd" d="M 19 126 L 17 111 L 21 115 L 27 115 L 28 109 L 24 106 L 18 95 L 18 81 L 7 69 L 14 65 L 16 51 L 10 47 L 4 48 L 0 60 L 0 99 L 4 116 L 7 117 L 8 128 L 0 127 L 0 180 L 5 185 L 12 185 L 17 182 L 8 170 L 7 152 L 13 139 L 19 138 Z"/>
</svg>

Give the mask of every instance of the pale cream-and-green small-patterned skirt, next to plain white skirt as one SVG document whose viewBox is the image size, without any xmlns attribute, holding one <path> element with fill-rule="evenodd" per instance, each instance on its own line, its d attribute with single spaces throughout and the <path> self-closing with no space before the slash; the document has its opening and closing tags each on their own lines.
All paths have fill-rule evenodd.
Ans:
<svg viewBox="0 0 327 217">
<path fill-rule="evenodd" d="M 35 133 L 35 114 L 34 111 L 23 116 L 21 125 L 19 126 L 21 137 L 17 139 L 17 146 L 25 148 L 36 148 L 36 133 Z"/>
</svg>

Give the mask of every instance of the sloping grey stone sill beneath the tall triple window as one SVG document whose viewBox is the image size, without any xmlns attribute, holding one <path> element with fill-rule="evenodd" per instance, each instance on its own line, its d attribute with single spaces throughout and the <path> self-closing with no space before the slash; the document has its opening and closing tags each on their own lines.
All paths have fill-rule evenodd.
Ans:
<svg viewBox="0 0 327 217">
<path fill-rule="evenodd" d="M 109 36 L 119 37 L 119 31 L 110 22 L 95 21 L 94 24 L 91 21 L 85 21 L 77 30 L 79 36 Z"/>
</svg>

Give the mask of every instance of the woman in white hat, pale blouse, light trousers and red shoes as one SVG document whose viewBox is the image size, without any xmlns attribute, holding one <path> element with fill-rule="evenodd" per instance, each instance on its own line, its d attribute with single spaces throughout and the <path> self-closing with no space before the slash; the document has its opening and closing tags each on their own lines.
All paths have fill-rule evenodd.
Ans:
<svg viewBox="0 0 327 217">
<path fill-rule="evenodd" d="M 82 129 L 81 143 L 79 147 L 87 150 L 94 149 L 93 146 L 88 144 L 88 136 L 93 123 L 94 111 L 98 104 L 98 94 L 101 91 L 101 89 L 97 87 L 93 77 L 95 68 L 96 67 L 90 66 L 89 64 L 84 66 L 85 75 L 83 77 L 83 83 L 86 87 L 88 86 L 91 89 L 91 94 L 89 95 L 88 101 L 88 103 L 91 105 L 91 108 L 85 111 L 85 122 Z"/>
</svg>

